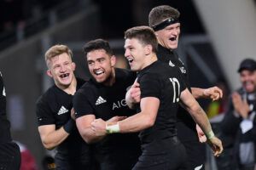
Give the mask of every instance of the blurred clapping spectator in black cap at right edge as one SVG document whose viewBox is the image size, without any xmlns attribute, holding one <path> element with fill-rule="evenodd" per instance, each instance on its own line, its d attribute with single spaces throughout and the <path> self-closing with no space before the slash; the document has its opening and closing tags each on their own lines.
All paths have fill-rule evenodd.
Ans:
<svg viewBox="0 0 256 170">
<path fill-rule="evenodd" d="M 256 142 L 256 61 L 244 59 L 238 69 L 241 88 L 231 97 L 221 123 L 224 154 L 220 156 L 221 170 L 253 170 Z"/>
</svg>

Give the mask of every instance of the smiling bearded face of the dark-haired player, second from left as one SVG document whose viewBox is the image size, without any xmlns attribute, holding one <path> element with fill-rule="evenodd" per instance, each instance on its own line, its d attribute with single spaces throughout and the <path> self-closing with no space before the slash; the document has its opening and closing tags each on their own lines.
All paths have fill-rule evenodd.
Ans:
<svg viewBox="0 0 256 170">
<path fill-rule="evenodd" d="M 115 57 L 110 56 L 104 49 L 96 49 L 87 54 L 90 74 L 96 82 L 111 85 L 114 81 Z"/>
</svg>

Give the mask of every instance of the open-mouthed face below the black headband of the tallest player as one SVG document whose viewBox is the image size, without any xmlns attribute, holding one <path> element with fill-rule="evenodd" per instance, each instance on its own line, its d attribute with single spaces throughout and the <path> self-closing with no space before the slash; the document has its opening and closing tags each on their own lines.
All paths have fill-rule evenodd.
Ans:
<svg viewBox="0 0 256 170">
<path fill-rule="evenodd" d="M 180 34 L 180 23 L 175 23 L 166 28 L 155 31 L 158 42 L 165 48 L 176 49 Z"/>
</svg>

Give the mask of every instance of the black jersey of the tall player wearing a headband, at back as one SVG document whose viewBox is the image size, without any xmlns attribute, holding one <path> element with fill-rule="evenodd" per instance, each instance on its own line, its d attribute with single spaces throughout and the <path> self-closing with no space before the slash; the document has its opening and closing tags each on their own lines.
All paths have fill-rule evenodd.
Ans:
<svg viewBox="0 0 256 170">
<path fill-rule="evenodd" d="M 178 57 L 177 53 L 168 48 L 164 48 L 159 44 L 157 56 L 160 61 L 170 65 L 171 67 L 178 68 L 182 73 L 186 87 L 191 92 L 188 70 L 182 60 Z M 181 139 L 181 141 L 198 140 L 195 125 L 195 121 L 192 116 L 190 116 L 189 112 L 180 106 L 177 111 L 177 137 Z"/>
</svg>

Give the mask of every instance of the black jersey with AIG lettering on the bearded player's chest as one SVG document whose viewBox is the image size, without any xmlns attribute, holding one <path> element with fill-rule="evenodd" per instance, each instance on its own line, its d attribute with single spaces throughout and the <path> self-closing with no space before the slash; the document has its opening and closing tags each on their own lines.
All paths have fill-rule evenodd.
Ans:
<svg viewBox="0 0 256 170">
<path fill-rule="evenodd" d="M 104 121 L 113 116 L 131 116 L 136 113 L 129 109 L 125 102 L 126 89 L 135 81 L 135 72 L 115 69 L 115 82 L 113 86 L 105 86 L 102 83 L 90 79 L 84 83 L 73 99 L 76 117 L 95 115 Z M 140 142 L 137 133 L 113 133 L 96 143 L 96 150 L 102 155 L 111 155 L 113 150 L 140 150 Z"/>
</svg>

